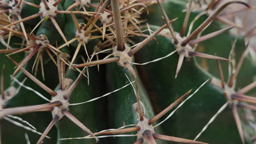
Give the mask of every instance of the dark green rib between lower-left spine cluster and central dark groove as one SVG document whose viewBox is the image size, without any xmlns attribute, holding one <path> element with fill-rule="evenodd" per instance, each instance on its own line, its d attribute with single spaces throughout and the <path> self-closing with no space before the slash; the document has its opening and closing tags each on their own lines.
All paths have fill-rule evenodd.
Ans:
<svg viewBox="0 0 256 144">
<path fill-rule="evenodd" d="M 79 85 L 75 88 L 71 95 L 70 103 L 80 103 L 86 100 L 90 100 L 96 97 L 100 97 L 104 93 L 103 85 L 99 85 L 101 80 L 104 80 L 103 73 L 97 71 L 96 68 L 90 68 L 90 85 L 88 86 L 88 80 L 83 77 Z M 75 80 L 78 73 L 73 70 L 68 70 L 66 72 L 66 78 Z M 57 87 L 56 89 L 58 89 Z M 97 91 L 95 91 L 97 89 Z M 98 91 L 101 90 L 101 91 Z M 78 119 L 83 119 L 84 125 L 86 125 L 92 131 L 99 131 L 101 129 L 106 129 L 107 121 L 102 121 L 102 119 L 107 119 L 106 113 L 104 113 L 104 104 L 106 101 L 99 100 L 95 103 L 86 103 L 82 105 L 70 106 L 70 112 Z M 88 135 L 77 127 L 73 122 L 71 122 L 67 117 L 63 118 L 61 121 L 57 122 L 57 139 L 67 138 L 67 137 L 83 137 Z M 68 129 L 67 129 L 68 128 Z M 94 143 L 94 139 L 89 140 L 59 140 L 58 144 L 67 143 Z M 107 142 L 106 140 L 101 140 L 101 142 Z"/>
</svg>

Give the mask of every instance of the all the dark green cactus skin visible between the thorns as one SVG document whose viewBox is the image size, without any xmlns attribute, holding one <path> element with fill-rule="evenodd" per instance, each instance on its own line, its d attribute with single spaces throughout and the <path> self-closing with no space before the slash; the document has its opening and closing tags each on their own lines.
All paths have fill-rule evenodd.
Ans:
<svg viewBox="0 0 256 144">
<path fill-rule="evenodd" d="M 26 1 L 35 4 L 40 3 L 40 0 Z M 185 9 L 186 2 L 187 1 L 171 0 L 168 1 L 168 3 L 170 4 L 163 4 L 166 7 L 170 6 L 169 8 L 166 8 L 167 10 L 170 10 L 167 11 L 168 15 L 170 16 L 170 19 L 179 17 L 179 20 L 173 23 L 174 29 L 181 29 L 183 23 L 182 20 L 184 19 L 185 15 L 185 13 L 181 13 L 181 11 Z M 58 6 L 60 10 L 65 10 L 69 7 L 69 5 L 73 3 L 74 1 L 71 0 L 61 1 L 61 3 Z M 98 3 L 96 2 L 95 4 L 97 5 Z M 148 22 L 150 24 L 162 26 L 164 24 L 164 21 L 162 21 L 161 17 L 159 16 L 160 11 L 158 10 L 159 13 L 156 13 L 154 7 L 155 6 L 149 7 L 150 19 Z M 156 5 L 156 7 L 158 7 L 158 5 Z M 38 13 L 38 10 L 36 8 L 31 8 L 31 6 L 27 6 L 26 9 L 28 9 L 28 11 L 22 11 L 22 17 L 27 17 L 32 14 Z M 94 8 L 90 8 L 88 9 L 88 11 L 94 11 Z M 154 13 L 156 15 L 154 15 Z M 190 21 L 192 20 L 192 17 L 194 17 L 196 14 L 198 13 L 191 14 L 192 16 L 190 18 Z M 77 16 L 77 19 L 79 22 L 86 23 L 85 19 L 83 19 L 80 16 Z M 203 16 L 203 20 L 205 19 L 206 15 Z M 37 19 L 24 22 L 26 24 L 25 27 L 33 28 L 37 24 L 37 22 L 39 22 L 39 20 L 39 17 L 37 17 Z M 72 17 L 69 14 L 57 14 L 56 21 L 61 27 L 67 40 L 71 40 L 75 37 L 75 25 L 72 20 Z M 201 19 L 200 21 L 197 21 L 195 23 L 194 27 L 199 26 L 200 23 Z M 207 29 L 204 33 L 216 31 L 218 29 L 216 28 L 216 26 L 219 26 L 219 23 L 213 22 L 210 28 L 208 28 L 209 30 Z M 152 29 L 154 29 L 154 27 L 152 27 Z M 43 23 L 36 30 L 36 35 L 42 33 L 47 35 L 52 45 L 55 45 L 56 42 L 59 46 L 64 43 L 62 38 L 60 37 L 60 34 L 56 31 L 50 20 L 43 21 Z M 228 33 L 224 33 L 216 38 L 201 43 L 199 47 L 207 47 L 205 48 L 205 53 L 218 53 L 218 56 L 228 57 L 229 49 L 231 47 L 230 42 L 235 38 L 236 37 L 233 37 Z M 136 43 L 139 43 L 140 41 L 142 41 L 142 39 L 143 38 L 139 37 L 135 41 Z M 172 45 L 170 39 L 162 37 L 160 35 L 158 35 L 156 39 L 158 39 L 159 44 L 157 45 L 155 41 L 150 41 L 146 46 L 143 47 L 143 50 L 136 53 L 135 62 L 148 62 L 153 59 L 165 56 L 171 51 L 175 50 L 174 45 Z M 213 44 L 216 44 L 214 43 L 214 41 L 216 40 L 222 41 L 221 43 L 218 43 L 218 46 L 216 46 L 218 49 L 216 49 L 216 47 L 213 46 Z M 15 37 L 12 37 L 11 41 L 11 43 L 21 43 L 19 40 L 15 40 Z M 89 53 L 93 52 L 94 46 L 97 44 L 98 41 L 100 41 L 100 39 L 91 40 L 88 44 L 86 44 L 86 48 L 88 49 Z M 239 49 L 239 47 L 244 46 L 244 41 L 238 39 L 237 43 L 237 53 L 240 53 L 241 49 Z M 77 47 L 77 44 L 78 43 L 76 41 L 75 43 L 70 44 L 70 47 L 66 46 L 65 48 L 61 49 L 61 51 L 73 55 L 73 52 Z M 11 44 L 11 46 L 13 46 L 13 44 Z M 1 45 L 1 49 L 5 49 L 5 47 Z M 86 56 L 83 50 L 80 50 L 80 54 Z M 23 53 L 19 53 L 18 55 L 15 55 L 15 57 L 18 57 L 17 59 L 15 59 L 17 62 L 20 62 L 21 59 L 24 58 Z M 240 56 L 237 55 L 237 58 L 238 57 Z M 14 65 L 3 54 L 0 55 L 0 58 L 0 66 L 2 64 L 8 65 L 8 70 L 6 74 L 7 76 L 5 76 L 5 87 L 7 87 L 10 84 L 9 75 L 13 73 Z M 49 57 L 46 55 L 44 56 L 44 58 L 49 59 Z M 3 62 L 2 59 L 4 59 Z M 170 105 L 172 101 L 177 99 L 179 95 L 183 94 L 185 91 L 188 91 L 191 88 L 195 90 L 197 87 L 200 86 L 202 82 L 212 78 L 212 75 L 202 70 L 199 64 L 197 64 L 196 61 L 200 62 L 201 59 L 191 58 L 188 59 L 188 61 L 186 61 L 187 59 L 185 59 L 178 78 L 174 79 L 175 70 L 177 66 L 177 59 L 177 54 L 174 54 L 173 56 L 162 61 L 138 67 L 139 72 L 137 74 L 140 74 L 139 76 L 142 78 L 143 81 L 139 82 L 139 92 L 141 93 L 142 103 L 144 104 L 144 106 L 146 106 L 146 116 L 148 118 L 152 118 L 154 116 L 154 113 L 159 113 L 166 106 Z M 28 71 L 31 71 L 33 61 L 34 57 L 30 60 L 30 62 L 27 63 L 25 68 Z M 241 73 L 243 75 L 247 75 L 248 77 L 253 77 L 253 75 L 255 75 L 256 70 L 255 64 L 252 63 L 251 59 L 249 58 L 248 60 L 246 59 L 245 63 L 247 63 L 246 68 L 242 67 Z M 216 62 L 213 60 L 207 60 L 207 64 L 208 67 L 210 68 L 208 71 L 211 74 L 213 74 L 213 76 L 218 77 Z M 225 62 L 225 64 L 227 64 L 227 62 Z M 46 63 L 44 66 L 46 80 L 43 81 L 43 83 L 46 86 L 49 86 L 50 88 L 54 89 L 56 88 L 57 83 L 59 83 L 59 81 L 57 80 L 57 69 L 51 61 L 49 63 Z M 227 70 L 224 69 L 224 71 Z M 132 80 L 132 76 L 129 73 L 129 71 L 119 67 L 116 63 L 103 65 L 102 67 L 100 67 L 100 72 L 97 72 L 96 67 L 90 68 L 89 72 L 90 86 L 88 86 L 87 80 L 83 78 L 80 81 L 77 88 L 75 88 L 74 92 L 72 93 L 70 99 L 71 103 L 79 103 L 81 101 L 86 101 L 91 98 L 98 97 L 109 91 L 114 91 L 115 89 L 126 85 L 129 81 L 125 77 L 125 73 L 129 75 L 130 79 Z M 77 77 L 78 73 L 74 73 L 72 70 L 68 70 L 66 75 L 67 77 L 70 76 L 74 79 L 75 77 Z M 18 79 L 22 81 L 22 79 L 25 76 L 24 74 L 20 74 L 16 77 L 18 77 Z M 38 77 L 39 80 L 42 81 L 42 78 L 39 74 Z M 225 77 L 227 76 L 225 75 Z M 242 75 L 240 75 L 240 77 L 238 76 L 238 80 L 241 81 L 241 79 Z M 248 85 L 248 83 L 252 81 L 253 80 L 251 79 L 242 80 L 241 83 L 237 83 L 237 88 Z M 38 92 L 42 93 L 43 95 L 45 95 L 45 97 L 48 97 L 50 99 L 50 97 L 48 96 L 49 94 L 44 92 L 42 88 L 35 85 L 32 81 L 27 80 L 25 82 L 25 85 L 36 89 Z M 18 85 L 15 84 L 15 86 Z M 147 89 L 148 94 L 143 87 Z M 150 97 L 151 103 L 148 100 L 148 95 Z M 191 98 L 186 104 L 184 104 L 183 107 L 181 107 L 181 109 L 178 110 L 173 117 L 168 119 L 168 121 L 162 124 L 156 131 L 161 134 L 162 129 L 162 131 L 166 135 L 194 139 L 196 134 L 200 132 L 203 126 L 214 115 L 214 113 L 216 113 L 219 107 L 225 103 L 225 101 L 226 99 L 224 98 L 222 91 L 218 87 L 215 87 L 211 85 L 210 82 L 208 82 L 207 85 L 202 87 L 202 89 L 198 93 L 196 93 L 193 98 Z M 132 87 L 129 86 L 124 89 L 121 89 L 119 92 L 108 95 L 108 98 L 103 98 L 92 103 L 83 104 L 79 106 L 70 106 L 70 109 L 71 113 L 75 117 L 77 117 L 80 121 L 82 121 L 82 123 L 84 123 L 88 128 L 90 128 L 92 132 L 96 132 L 103 129 L 119 128 L 123 126 L 124 123 L 136 124 L 137 115 L 132 110 L 132 104 L 135 102 L 135 94 L 133 93 Z M 19 94 L 9 101 L 7 107 L 35 105 L 43 103 L 45 103 L 45 101 L 37 97 L 37 95 L 35 95 L 33 92 L 27 91 L 26 89 L 22 88 Z M 21 115 L 21 117 L 31 122 L 36 128 L 38 128 L 38 131 L 40 132 L 43 132 L 43 130 L 46 128 L 46 126 L 52 119 L 50 112 L 35 112 L 26 115 Z M 160 119 L 160 121 L 161 120 L 162 119 Z M 3 143 L 17 143 L 21 141 L 25 142 L 23 135 L 25 133 L 25 130 L 14 127 L 8 122 L 3 122 L 3 125 Z M 17 132 L 19 134 L 15 135 L 9 129 L 11 129 L 11 131 L 19 131 Z M 31 143 L 36 143 L 36 141 L 39 139 L 38 135 L 32 134 L 30 132 L 28 132 L 28 135 L 30 137 Z M 95 143 L 95 140 L 57 140 L 66 137 L 81 137 L 85 135 L 87 134 L 83 130 L 76 127 L 67 118 L 63 118 L 61 121 L 57 122 L 56 127 L 54 127 L 50 131 L 49 136 L 51 136 L 52 139 L 44 139 L 44 142 Z M 216 121 L 214 121 L 214 123 L 210 125 L 210 127 L 205 131 L 205 133 L 203 133 L 199 140 L 208 143 L 241 143 L 240 137 L 237 133 L 236 124 L 229 107 L 226 108 L 226 110 L 218 116 Z M 115 137 L 114 139 L 101 139 L 100 143 L 133 143 L 135 141 L 136 137 Z M 170 142 L 158 141 L 158 143 Z"/>
</svg>

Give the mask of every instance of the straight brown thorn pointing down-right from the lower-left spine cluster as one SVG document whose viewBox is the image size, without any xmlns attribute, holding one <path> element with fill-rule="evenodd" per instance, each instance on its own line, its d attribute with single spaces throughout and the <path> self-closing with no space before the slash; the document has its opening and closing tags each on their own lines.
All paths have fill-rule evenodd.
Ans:
<svg viewBox="0 0 256 144">
<path fill-rule="evenodd" d="M 98 141 L 98 138 L 90 131 L 90 129 L 86 128 L 83 123 L 81 123 L 77 118 L 75 118 L 70 112 L 67 110 L 62 110 L 62 113 L 68 117 L 72 122 L 78 125 L 78 127 L 82 128 L 86 133 L 88 133 L 91 136 L 94 136 L 96 141 Z"/>
</svg>

